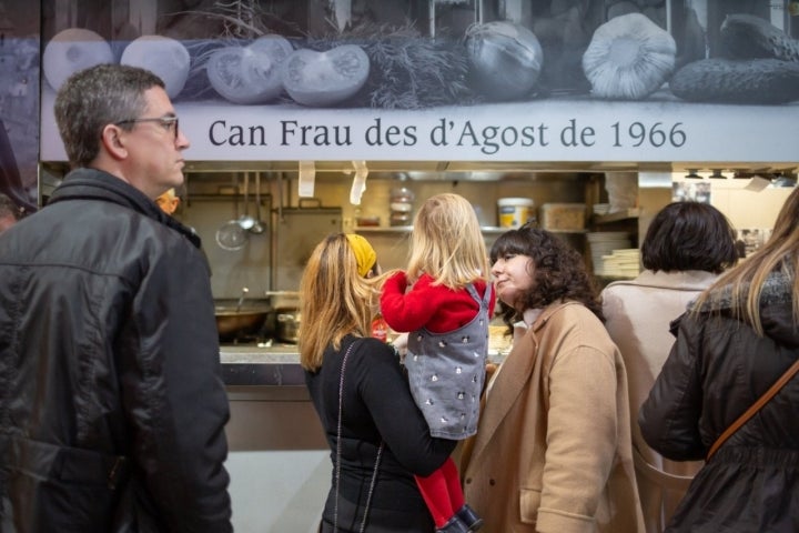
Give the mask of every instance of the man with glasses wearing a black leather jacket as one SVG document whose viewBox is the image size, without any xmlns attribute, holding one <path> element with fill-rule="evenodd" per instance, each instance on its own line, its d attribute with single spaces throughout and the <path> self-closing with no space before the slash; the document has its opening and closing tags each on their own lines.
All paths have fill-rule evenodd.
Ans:
<svg viewBox="0 0 799 533">
<path fill-rule="evenodd" d="M 102 64 L 59 90 L 72 170 L 0 235 L 0 531 L 230 532 L 229 404 L 163 81 Z"/>
</svg>

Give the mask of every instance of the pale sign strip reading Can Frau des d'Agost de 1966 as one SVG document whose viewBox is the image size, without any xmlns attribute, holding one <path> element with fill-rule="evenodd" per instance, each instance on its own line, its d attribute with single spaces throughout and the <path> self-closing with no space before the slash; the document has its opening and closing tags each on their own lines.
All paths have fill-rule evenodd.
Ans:
<svg viewBox="0 0 799 533">
<path fill-rule="evenodd" d="M 424 111 L 175 105 L 190 161 L 796 161 L 799 108 L 545 101 Z M 42 159 L 61 161 L 50 117 Z"/>
</svg>

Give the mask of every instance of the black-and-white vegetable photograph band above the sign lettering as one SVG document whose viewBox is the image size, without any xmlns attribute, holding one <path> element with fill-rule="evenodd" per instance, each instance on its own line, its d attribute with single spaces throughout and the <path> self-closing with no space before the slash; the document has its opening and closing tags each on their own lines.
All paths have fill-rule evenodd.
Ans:
<svg viewBox="0 0 799 533">
<path fill-rule="evenodd" d="M 60 29 L 42 68 L 55 90 L 98 62 L 136 64 L 161 76 L 178 101 L 233 105 L 795 102 L 797 17 L 749 3 L 174 1 L 183 9 L 156 10 L 154 31 Z"/>
</svg>

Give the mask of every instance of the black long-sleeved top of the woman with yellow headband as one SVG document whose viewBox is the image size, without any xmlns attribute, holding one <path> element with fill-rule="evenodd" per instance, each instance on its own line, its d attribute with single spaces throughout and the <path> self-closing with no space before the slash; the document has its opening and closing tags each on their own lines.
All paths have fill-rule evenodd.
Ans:
<svg viewBox="0 0 799 533">
<path fill-rule="evenodd" d="M 431 475 L 453 452 L 456 441 L 431 436 L 393 348 L 377 339 L 346 336 L 341 351 L 327 348 L 317 372 L 305 372 L 311 400 L 331 446 L 334 480 L 338 389 L 342 362 L 351 344 L 342 395 L 338 531 L 360 531 L 377 451 L 384 441 L 366 531 L 432 533 L 433 519 L 413 474 Z M 335 510 L 334 481 L 322 531 L 333 531 Z"/>
</svg>

